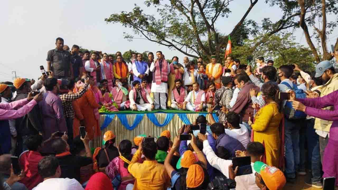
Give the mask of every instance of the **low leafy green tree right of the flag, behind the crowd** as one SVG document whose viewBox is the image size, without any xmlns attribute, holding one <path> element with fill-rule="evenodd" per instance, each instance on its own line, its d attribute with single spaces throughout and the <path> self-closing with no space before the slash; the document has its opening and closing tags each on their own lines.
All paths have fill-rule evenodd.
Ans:
<svg viewBox="0 0 338 190">
<path fill-rule="evenodd" d="M 265 40 L 265 43 L 258 46 L 256 51 L 252 53 L 250 49 L 262 39 Z M 291 33 L 274 34 L 268 37 L 261 35 L 252 40 L 245 40 L 244 45 L 235 47 L 233 52 L 232 55 L 238 57 L 242 64 L 246 63 L 247 56 L 253 55 L 254 59 L 263 56 L 265 61 L 269 59 L 274 60 L 275 67 L 295 63 L 303 70 L 314 70 L 314 64 L 312 62 L 315 61 L 315 59 L 312 55 L 312 51 L 296 43 L 295 37 L 292 36 Z"/>
</svg>

